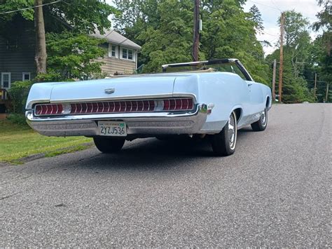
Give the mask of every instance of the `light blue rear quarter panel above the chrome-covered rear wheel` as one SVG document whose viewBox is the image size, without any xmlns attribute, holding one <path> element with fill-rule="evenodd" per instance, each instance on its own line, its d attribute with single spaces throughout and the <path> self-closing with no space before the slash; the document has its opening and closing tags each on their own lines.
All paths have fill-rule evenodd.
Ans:
<svg viewBox="0 0 332 249">
<path fill-rule="evenodd" d="M 173 93 L 194 93 L 199 103 L 213 106 L 201 133 L 219 133 L 234 109 L 242 109 L 240 124 L 245 123 L 252 112 L 249 88 L 237 74 L 213 72 L 176 79 Z"/>
</svg>

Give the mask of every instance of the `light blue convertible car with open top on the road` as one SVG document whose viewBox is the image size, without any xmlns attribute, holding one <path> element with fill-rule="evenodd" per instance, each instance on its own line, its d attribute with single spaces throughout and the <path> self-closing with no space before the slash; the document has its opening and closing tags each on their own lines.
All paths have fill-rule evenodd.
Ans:
<svg viewBox="0 0 332 249">
<path fill-rule="evenodd" d="M 93 137 L 104 153 L 138 137 L 190 135 L 208 137 L 214 154 L 228 156 L 238 129 L 265 130 L 270 107 L 270 88 L 239 60 L 222 59 L 163 65 L 160 74 L 36 83 L 26 117 L 42 135 Z"/>
</svg>

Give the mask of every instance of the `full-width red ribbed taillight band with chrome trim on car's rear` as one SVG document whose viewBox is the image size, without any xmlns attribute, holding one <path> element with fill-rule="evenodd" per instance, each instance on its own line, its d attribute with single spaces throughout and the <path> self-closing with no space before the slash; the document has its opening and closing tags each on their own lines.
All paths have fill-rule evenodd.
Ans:
<svg viewBox="0 0 332 249">
<path fill-rule="evenodd" d="M 133 113 L 133 112 L 181 112 L 194 108 L 193 98 L 175 97 L 160 100 L 119 100 L 79 102 L 69 104 L 37 104 L 35 116 Z"/>
</svg>

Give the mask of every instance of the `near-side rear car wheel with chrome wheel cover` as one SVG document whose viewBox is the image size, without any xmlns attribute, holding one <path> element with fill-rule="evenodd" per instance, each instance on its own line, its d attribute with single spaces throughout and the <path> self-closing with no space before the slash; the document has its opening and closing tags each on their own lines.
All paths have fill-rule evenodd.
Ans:
<svg viewBox="0 0 332 249">
<path fill-rule="evenodd" d="M 220 133 L 212 136 L 212 149 L 216 156 L 229 156 L 235 152 L 237 139 L 237 120 L 235 112 L 230 117 Z"/>
</svg>

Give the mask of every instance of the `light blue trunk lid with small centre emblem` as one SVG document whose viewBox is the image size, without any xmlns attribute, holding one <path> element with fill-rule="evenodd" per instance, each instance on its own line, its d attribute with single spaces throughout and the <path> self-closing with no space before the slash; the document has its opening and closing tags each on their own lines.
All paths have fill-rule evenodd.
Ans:
<svg viewBox="0 0 332 249">
<path fill-rule="evenodd" d="M 50 102 L 172 97 L 175 79 L 174 75 L 157 74 L 58 83 L 53 86 Z"/>
</svg>

